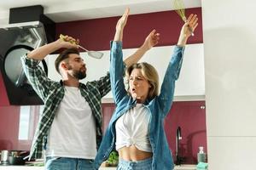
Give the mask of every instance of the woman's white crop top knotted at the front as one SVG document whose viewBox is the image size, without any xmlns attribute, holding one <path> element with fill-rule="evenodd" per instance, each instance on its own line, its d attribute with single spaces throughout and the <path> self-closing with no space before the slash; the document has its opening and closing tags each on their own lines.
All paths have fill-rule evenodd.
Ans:
<svg viewBox="0 0 256 170">
<path fill-rule="evenodd" d="M 134 144 L 138 150 L 152 152 L 148 139 L 149 111 L 143 104 L 120 116 L 116 122 L 116 150 Z"/>
</svg>

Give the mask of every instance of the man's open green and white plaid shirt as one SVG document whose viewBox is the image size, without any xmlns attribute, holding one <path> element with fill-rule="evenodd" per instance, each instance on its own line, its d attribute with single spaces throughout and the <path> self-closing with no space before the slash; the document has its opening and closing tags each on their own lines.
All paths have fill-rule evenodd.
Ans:
<svg viewBox="0 0 256 170">
<path fill-rule="evenodd" d="M 62 82 L 55 82 L 49 79 L 42 68 L 38 65 L 38 60 L 21 57 L 23 70 L 33 89 L 44 101 L 43 114 L 39 116 L 38 127 L 32 141 L 32 148 L 29 159 L 41 158 L 43 156 L 43 146 L 49 133 L 49 128 L 55 118 L 55 111 L 64 97 L 64 87 Z M 97 147 L 102 141 L 102 97 L 110 91 L 109 73 L 97 81 L 79 83 L 79 89 L 84 99 L 90 105 L 92 114 L 96 119 L 96 143 Z M 86 135 L 86 134 L 84 134 Z"/>
</svg>

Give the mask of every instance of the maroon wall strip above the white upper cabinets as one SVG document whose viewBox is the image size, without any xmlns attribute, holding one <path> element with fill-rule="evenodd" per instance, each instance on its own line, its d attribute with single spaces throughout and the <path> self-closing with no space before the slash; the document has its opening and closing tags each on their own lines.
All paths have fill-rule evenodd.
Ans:
<svg viewBox="0 0 256 170">
<path fill-rule="evenodd" d="M 199 26 L 195 31 L 195 37 L 190 37 L 188 43 L 200 43 L 202 42 L 201 8 L 186 10 L 187 15 L 191 13 L 198 15 Z M 117 20 L 119 17 L 59 23 L 56 25 L 56 35 L 58 37 L 59 34 L 64 34 L 79 38 L 80 44 L 90 50 L 108 50 Z M 183 21 L 175 11 L 131 15 L 125 26 L 123 47 L 139 47 L 153 29 L 160 32 L 158 46 L 176 44 L 182 26 Z"/>
</svg>

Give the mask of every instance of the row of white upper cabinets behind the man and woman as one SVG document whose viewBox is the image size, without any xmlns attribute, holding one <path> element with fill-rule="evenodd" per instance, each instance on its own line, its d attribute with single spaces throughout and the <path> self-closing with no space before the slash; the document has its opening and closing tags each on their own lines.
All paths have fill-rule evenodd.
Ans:
<svg viewBox="0 0 256 170">
<path fill-rule="evenodd" d="M 163 80 L 173 48 L 174 46 L 152 48 L 141 60 L 154 65 L 159 72 L 160 82 Z M 124 49 L 124 58 L 133 54 L 135 51 L 136 48 Z M 109 69 L 109 51 L 102 51 L 102 53 L 104 53 L 102 59 L 93 59 L 86 53 L 81 53 L 87 67 L 87 77 L 81 82 L 96 80 L 106 75 Z M 54 65 L 56 57 L 57 54 L 48 56 L 49 78 L 59 81 L 61 76 L 55 71 Z M 175 100 L 204 99 L 205 75 L 203 58 L 202 43 L 186 46 L 182 71 L 176 83 Z M 104 97 L 103 102 L 113 102 L 112 94 L 108 93 Z"/>
</svg>

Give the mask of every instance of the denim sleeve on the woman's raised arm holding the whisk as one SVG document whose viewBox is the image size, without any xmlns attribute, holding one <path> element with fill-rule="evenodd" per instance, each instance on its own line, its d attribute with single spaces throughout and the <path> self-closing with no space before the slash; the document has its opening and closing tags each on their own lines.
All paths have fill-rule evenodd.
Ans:
<svg viewBox="0 0 256 170">
<path fill-rule="evenodd" d="M 179 77 L 181 66 L 183 63 L 184 47 L 176 46 L 174 48 L 172 59 L 166 70 L 166 74 L 160 89 L 159 103 L 165 117 L 170 111 L 175 89 L 175 81 Z"/>
</svg>

